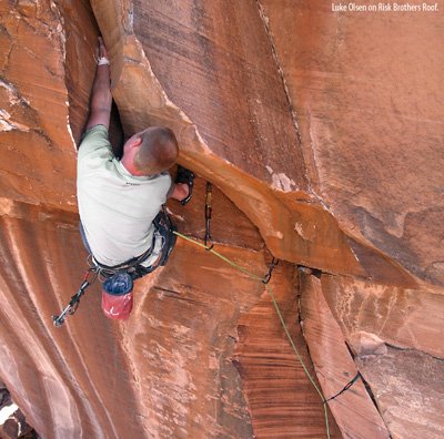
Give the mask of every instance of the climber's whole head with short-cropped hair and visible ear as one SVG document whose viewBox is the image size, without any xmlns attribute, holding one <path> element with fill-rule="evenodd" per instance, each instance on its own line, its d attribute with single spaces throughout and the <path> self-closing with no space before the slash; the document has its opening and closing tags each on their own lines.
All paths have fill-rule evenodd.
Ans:
<svg viewBox="0 0 444 439">
<path fill-rule="evenodd" d="M 178 140 L 172 130 L 151 126 L 125 142 L 122 163 L 133 175 L 154 175 L 171 167 L 178 155 Z"/>
</svg>

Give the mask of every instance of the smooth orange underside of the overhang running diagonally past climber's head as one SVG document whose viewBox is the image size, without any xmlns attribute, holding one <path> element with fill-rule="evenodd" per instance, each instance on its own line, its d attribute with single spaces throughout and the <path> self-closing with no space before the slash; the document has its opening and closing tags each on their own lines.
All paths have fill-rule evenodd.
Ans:
<svg viewBox="0 0 444 439">
<path fill-rule="evenodd" d="M 296 191 L 291 190 L 292 186 L 283 190 L 282 184 L 276 190 L 213 153 L 212 146 L 200 134 L 201 127 L 167 95 L 133 33 L 132 3 L 123 4 L 120 9 L 117 6 L 108 9 L 108 3 L 92 2 L 101 31 L 110 45 L 112 64 L 118 65 L 112 72 L 113 95 L 125 132 L 132 133 L 152 124 L 172 126 L 181 143 L 181 162 L 215 183 L 259 227 L 275 256 L 330 273 L 390 283 L 390 278 L 380 277 L 377 270 L 372 270 L 365 257 L 362 258 L 364 266 L 360 263 L 336 220 L 316 197 L 306 192 L 305 182 Z M 270 224 L 273 224 L 272 228 Z M 377 251 L 372 249 L 371 253 L 374 258 L 383 259 L 389 272 L 395 273 L 397 284 L 415 285 L 401 266 L 384 259 Z"/>
</svg>

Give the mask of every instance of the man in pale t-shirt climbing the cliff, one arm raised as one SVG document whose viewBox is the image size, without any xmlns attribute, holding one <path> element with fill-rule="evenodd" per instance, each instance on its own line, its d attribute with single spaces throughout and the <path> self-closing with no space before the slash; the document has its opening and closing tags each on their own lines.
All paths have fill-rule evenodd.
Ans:
<svg viewBox="0 0 444 439">
<path fill-rule="evenodd" d="M 175 243 L 162 211 L 168 197 L 186 204 L 194 175 L 179 166 L 176 183 L 168 170 L 179 154 L 174 133 L 150 126 L 132 135 L 119 161 L 108 140 L 112 96 L 110 62 L 99 38 L 99 61 L 91 112 L 78 152 L 78 203 L 83 244 L 104 275 L 102 309 L 127 318 L 132 308 L 132 280 L 167 263 Z"/>
</svg>

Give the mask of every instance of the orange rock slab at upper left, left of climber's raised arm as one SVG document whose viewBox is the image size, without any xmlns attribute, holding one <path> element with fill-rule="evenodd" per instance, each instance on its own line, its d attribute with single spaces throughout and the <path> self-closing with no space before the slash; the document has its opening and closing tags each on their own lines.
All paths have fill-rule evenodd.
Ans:
<svg viewBox="0 0 444 439">
<path fill-rule="evenodd" d="M 69 16 L 49 0 L 17 3 L 0 6 L 4 53 L 0 63 L 1 196 L 73 212 L 75 146 L 71 126 L 79 139 L 92 75 L 65 68 L 75 65 L 75 62 L 82 59 L 87 72 L 92 71 L 93 60 L 85 53 L 91 53 L 93 20 L 82 2 L 70 9 Z M 75 28 L 79 22 L 82 29 Z M 75 94 L 69 93 L 67 82 L 75 88 Z M 70 100 L 74 101 L 73 114 Z"/>
</svg>

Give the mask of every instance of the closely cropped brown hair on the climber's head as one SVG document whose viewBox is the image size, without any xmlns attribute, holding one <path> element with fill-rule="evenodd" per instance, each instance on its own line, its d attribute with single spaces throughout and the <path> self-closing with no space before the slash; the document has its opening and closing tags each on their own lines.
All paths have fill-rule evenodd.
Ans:
<svg viewBox="0 0 444 439">
<path fill-rule="evenodd" d="M 145 175 L 170 169 L 179 155 L 178 140 L 167 126 L 153 126 L 141 132 L 142 144 L 134 156 L 134 166 Z"/>
</svg>

